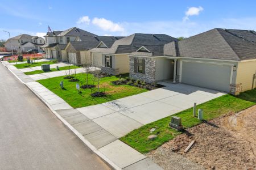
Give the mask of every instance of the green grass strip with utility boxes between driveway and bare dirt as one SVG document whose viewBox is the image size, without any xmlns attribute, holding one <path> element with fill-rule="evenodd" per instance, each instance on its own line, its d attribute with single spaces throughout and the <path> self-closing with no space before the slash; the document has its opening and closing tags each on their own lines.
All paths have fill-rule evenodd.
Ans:
<svg viewBox="0 0 256 170">
<path fill-rule="evenodd" d="M 239 112 L 243 109 L 251 107 L 252 105 L 255 105 L 255 93 L 256 89 L 243 92 L 239 96 L 224 95 L 198 105 L 197 109 L 203 109 L 204 119 L 211 120 L 223 114 L 227 114 L 229 112 Z M 182 118 L 182 125 L 184 128 L 190 128 L 201 123 L 201 121 L 199 121 L 196 117 L 193 117 L 193 108 L 176 113 L 175 115 Z M 163 145 L 163 143 L 173 139 L 176 135 L 184 132 L 178 132 L 169 128 L 170 120 L 171 116 L 162 118 L 161 120 L 133 130 L 120 139 L 121 141 L 127 143 L 127 145 L 135 148 L 135 150 L 144 154 L 156 149 L 157 147 Z M 149 133 L 150 129 L 155 127 L 157 129 L 154 131 L 154 133 Z M 150 134 L 157 134 L 158 137 L 152 141 L 148 140 L 147 137 Z"/>
</svg>

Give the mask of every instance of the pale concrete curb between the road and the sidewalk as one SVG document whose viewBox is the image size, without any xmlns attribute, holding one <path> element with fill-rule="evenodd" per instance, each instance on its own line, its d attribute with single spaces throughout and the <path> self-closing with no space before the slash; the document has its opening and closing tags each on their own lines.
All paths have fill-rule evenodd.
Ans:
<svg viewBox="0 0 256 170">
<path fill-rule="evenodd" d="M 2 61 L 1 61 L 2 62 Z M 121 168 L 119 168 L 115 163 L 112 162 L 112 160 L 110 160 L 109 158 L 107 158 L 104 154 L 102 154 L 100 151 L 97 150 L 96 147 L 94 147 L 88 140 L 86 140 L 83 135 L 81 135 L 75 128 L 73 128 L 73 126 L 71 126 L 67 121 L 64 120 L 64 118 L 62 118 L 60 116 L 59 113 L 57 113 L 55 110 L 52 109 L 51 105 L 49 105 L 41 96 L 39 96 L 38 94 L 36 94 L 36 92 L 34 90 L 32 90 L 31 87 L 27 86 L 26 83 L 24 83 L 16 74 L 13 73 L 13 71 L 11 71 L 9 69 L 9 67 L 7 67 L 5 65 L 5 63 L 2 62 L 2 64 L 20 81 L 22 82 L 22 84 L 24 84 L 31 92 L 33 92 L 36 97 L 38 97 L 39 100 L 41 100 L 43 102 L 44 105 L 46 105 L 50 111 L 55 114 L 55 116 L 57 118 L 59 118 L 59 120 L 61 122 L 63 122 L 63 124 L 65 126 L 67 126 L 67 128 L 69 130 L 71 130 L 82 142 L 84 142 L 84 144 L 86 146 L 88 146 L 90 148 L 90 150 L 92 150 L 96 155 L 99 156 L 99 158 L 101 158 L 106 164 L 108 164 L 110 167 L 112 167 L 112 169 L 117 169 L 117 170 L 121 170 Z"/>
</svg>

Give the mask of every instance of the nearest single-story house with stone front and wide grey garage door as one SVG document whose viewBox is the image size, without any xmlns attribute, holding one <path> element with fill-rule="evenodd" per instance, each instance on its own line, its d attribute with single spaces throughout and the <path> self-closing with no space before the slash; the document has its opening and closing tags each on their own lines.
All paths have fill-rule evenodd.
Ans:
<svg viewBox="0 0 256 170">
<path fill-rule="evenodd" d="M 256 87 L 256 32 L 215 28 L 156 49 L 130 53 L 130 76 L 239 94 Z"/>
</svg>

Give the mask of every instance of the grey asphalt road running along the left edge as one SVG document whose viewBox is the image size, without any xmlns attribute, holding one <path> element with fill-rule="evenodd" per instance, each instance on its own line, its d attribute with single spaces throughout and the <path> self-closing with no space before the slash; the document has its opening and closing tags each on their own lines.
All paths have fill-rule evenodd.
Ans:
<svg viewBox="0 0 256 170">
<path fill-rule="evenodd" d="M 109 169 L 0 63 L 0 169 Z"/>
</svg>

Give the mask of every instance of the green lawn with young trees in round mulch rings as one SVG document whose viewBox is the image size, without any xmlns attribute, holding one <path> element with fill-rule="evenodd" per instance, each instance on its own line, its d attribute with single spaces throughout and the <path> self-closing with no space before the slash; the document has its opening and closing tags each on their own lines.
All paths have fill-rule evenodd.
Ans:
<svg viewBox="0 0 256 170">
<path fill-rule="evenodd" d="M 127 75 L 123 75 L 125 77 Z M 85 84 L 86 74 L 80 73 L 76 75 L 76 78 L 80 80 L 79 84 Z M 100 91 L 104 91 L 104 86 L 106 85 L 106 93 L 105 97 L 92 97 L 90 96 L 91 90 L 90 89 L 82 89 L 82 94 L 78 94 L 76 90 L 76 83 L 77 82 L 68 82 L 68 79 L 64 79 L 64 76 L 59 76 L 55 78 L 43 79 L 38 80 L 39 83 L 43 84 L 43 86 L 47 87 L 56 95 L 60 96 L 64 99 L 69 105 L 73 108 L 80 108 L 86 107 L 89 105 L 101 104 L 107 101 L 120 99 L 123 97 L 131 96 L 140 94 L 142 92 L 146 92 L 146 89 L 133 87 L 129 85 L 118 85 L 115 86 L 111 82 L 114 80 L 118 80 L 119 76 L 109 76 L 102 78 L 100 80 Z M 65 90 L 60 88 L 60 82 L 63 80 Z M 95 81 L 94 84 L 97 82 Z M 93 75 L 89 74 L 89 84 L 93 84 Z M 96 90 L 96 88 L 93 88 Z"/>
</svg>

